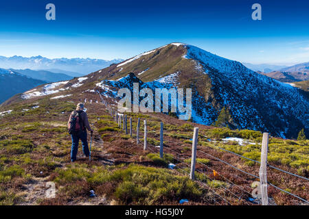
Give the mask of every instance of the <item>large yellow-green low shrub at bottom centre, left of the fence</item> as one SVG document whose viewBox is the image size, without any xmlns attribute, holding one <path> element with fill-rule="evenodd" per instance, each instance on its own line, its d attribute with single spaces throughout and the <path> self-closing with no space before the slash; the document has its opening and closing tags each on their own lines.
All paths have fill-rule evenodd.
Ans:
<svg viewBox="0 0 309 219">
<path fill-rule="evenodd" d="M 115 196 L 124 205 L 154 205 L 163 201 L 192 201 L 201 197 L 203 190 L 188 177 L 172 174 L 168 169 L 130 165 L 115 170 L 111 180 L 118 181 Z"/>
</svg>

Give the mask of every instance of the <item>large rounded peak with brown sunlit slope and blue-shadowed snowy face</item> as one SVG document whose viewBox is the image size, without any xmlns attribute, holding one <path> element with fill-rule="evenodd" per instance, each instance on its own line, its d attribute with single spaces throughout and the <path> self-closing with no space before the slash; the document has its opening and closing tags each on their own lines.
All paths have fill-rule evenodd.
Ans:
<svg viewBox="0 0 309 219">
<path fill-rule="evenodd" d="M 300 129 L 308 133 L 308 97 L 298 88 L 255 73 L 240 62 L 211 54 L 189 44 L 172 43 L 141 53 L 117 65 L 98 70 L 56 86 L 57 95 L 117 89 L 102 81 L 117 81 L 129 73 L 143 83 L 170 77 L 177 88 L 192 88 L 192 120 L 211 125 L 222 107 L 228 107 L 238 129 L 270 132 L 273 136 L 296 138 Z M 42 90 L 43 89 L 43 90 Z M 61 90 L 60 90 L 61 89 Z M 46 88 L 27 93 L 41 98 Z M 73 92 L 73 93 L 72 93 Z M 56 94 L 55 94 L 56 95 Z M 44 96 L 44 95 L 43 95 Z M 116 103 L 116 102 L 115 102 Z"/>
</svg>

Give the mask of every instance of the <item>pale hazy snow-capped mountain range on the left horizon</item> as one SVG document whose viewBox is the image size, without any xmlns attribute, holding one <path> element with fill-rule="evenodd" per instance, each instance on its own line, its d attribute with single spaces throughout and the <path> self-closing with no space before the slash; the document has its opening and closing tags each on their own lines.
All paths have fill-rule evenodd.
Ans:
<svg viewBox="0 0 309 219">
<path fill-rule="evenodd" d="M 56 69 L 56 73 L 61 73 L 58 70 L 65 70 L 77 73 L 76 75 L 70 75 L 73 77 L 80 75 L 87 75 L 95 70 L 105 68 L 113 63 L 118 62 L 122 62 L 122 60 L 118 59 L 108 61 L 108 60 L 98 60 L 90 58 L 49 59 L 47 57 L 42 57 L 41 55 L 35 57 L 22 57 L 16 55 L 12 57 L 0 56 L 0 68 L 14 68 L 14 69 L 29 68 L 32 70 L 49 70 L 53 72 Z"/>
</svg>

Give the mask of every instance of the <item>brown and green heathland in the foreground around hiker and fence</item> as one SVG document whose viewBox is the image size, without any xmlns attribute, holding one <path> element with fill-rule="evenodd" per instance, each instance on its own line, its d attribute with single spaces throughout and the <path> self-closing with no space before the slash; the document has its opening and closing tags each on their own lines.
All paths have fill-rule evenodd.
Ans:
<svg viewBox="0 0 309 219">
<path fill-rule="evenodd" d="M 258 160 L 262 133 L 207 127 L 163 114 L 131 113 L 127 114 L 133 118 L 133 138 L 130 138 L 108 115 L 98 94 L 84 92 L 72 98 L 50 98 L 45 96 L 1 108 L 1 111 L 13 110 L 0 118 L 1 204 L 161 205 L 177 204 L 181 198 L 189 199 L 188 205 L 227 204 L 220 196 L 233 205 L 253 204 L 247 198 L 251 196 L 251 184 L 257 180 L 254 177 L 198 153 L 196 177 L 203 184 L 189 180 L 189 168 L 182 162 L 187 163 L 190 159 L 193 127 L 200 127 L 199 150 L 258 175 L 257 164 L 218 147 Z M 76 103 L 84 99 L 87 99 L 87 113 L 95 129 L 92 160 L 89 162 L 87 158 L 80 157 L 79 149 L 78 162 L 71 164 L 71 139 L 66 124 Z M 141 121 L 146 119 L 148 123 L 147 151 L 143 151 L 142 137 L 141 143 L 136 144 L 137 118 Z M 161 121 L 165 133 L 164 159 L 159 158 L 155 148 L 159 145 Z M 140 135 L 144 136 L 143 129 Z M 237 142 L 222 140 L 227 137 L 244 138 L 249 142 L 240 146 Z M 308 177 L 308 153 L 309 140 L 271 138 L 268 162 Z M 170 162 L 176 164 L 175 170 L 168 168 Z M 220 176 L 215 176 L 212 169 Z M 302 198 L 309 198 L 306 181 L 275 170 L 268 172 L 268 180 Z M 56 198 L 45 198 L 45 183 L 48 181 L 56 183 Z M 89 198 L 90 190 L 95 190 L 95 198 Z M 269 192 L 277 204 L 298 203 L 278 190 L 270 189 Z M 240 196 L 242 198 L 238 198 Z"/>
</svg>

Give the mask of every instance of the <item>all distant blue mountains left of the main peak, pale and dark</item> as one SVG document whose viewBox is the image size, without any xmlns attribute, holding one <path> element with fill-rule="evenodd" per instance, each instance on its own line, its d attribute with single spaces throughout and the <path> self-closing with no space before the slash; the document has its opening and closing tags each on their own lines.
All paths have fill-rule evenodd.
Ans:
<svg viewBox="0 0 309 219">
<path fill-rule="evenodd" d="M 0 103 L 39 84 L 67 81 L 73 79 L 73 77 L 87 75 L 121 61 L 93 60 L 90 58 L 59 58 L 51 60 L 40 55 L 36 57 L 0 56 Z"/>
</svg>

